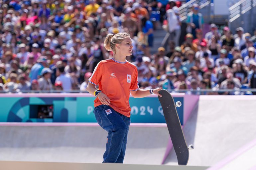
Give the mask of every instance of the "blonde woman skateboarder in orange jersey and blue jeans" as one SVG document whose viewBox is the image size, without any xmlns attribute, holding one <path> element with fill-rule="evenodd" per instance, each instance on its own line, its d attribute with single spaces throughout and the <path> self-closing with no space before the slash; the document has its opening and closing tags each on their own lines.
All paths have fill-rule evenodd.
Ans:
<svg viewBox="0 0 256 170">
<path fill-rule="evenodd" d="M 161 96 L 158 92 L 162 88 L 139 89 L 137 67 L 125 59 L 133 48 L 128 33 L 108 34 L 104 47 L 113 51 L 113 57 L 97 64 L 86 90 L 96 96 L 93 112 L 98 124 L 108 132 L 103 163 L 123 163 L 130 125 L 130 93 L 135 98 Z"/>
</svg>

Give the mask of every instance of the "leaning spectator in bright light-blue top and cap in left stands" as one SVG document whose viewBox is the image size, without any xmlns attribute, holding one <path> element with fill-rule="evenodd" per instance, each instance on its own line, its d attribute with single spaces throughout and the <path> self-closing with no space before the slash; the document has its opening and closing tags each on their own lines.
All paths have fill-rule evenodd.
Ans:
<svg viewBox="0 0 256 170">
<path fill-rule="evenodd" d="M 43 68 L 46 67 L 46 63 L 46 56 L 41 56 L 41 58 L 37 60 L 37 63 L 32 66 L 29 74 L 30 82 L 32 82 L 33 80 L 37 80 L 41 76 L 41 72 Z"/>
</svg>

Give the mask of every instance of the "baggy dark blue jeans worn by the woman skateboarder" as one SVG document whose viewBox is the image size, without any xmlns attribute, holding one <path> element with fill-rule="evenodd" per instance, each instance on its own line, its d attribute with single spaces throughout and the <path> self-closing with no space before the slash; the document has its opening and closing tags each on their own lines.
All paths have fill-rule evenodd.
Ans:
<svg viewBox="0 0 256 170">
<path fill-rule="evenodd" d="M 130 118 L 107 105 L 97 106 L 93 112 L 98 124 L 108 132 L 103 163 L 123 163 Z"/>
</svg>

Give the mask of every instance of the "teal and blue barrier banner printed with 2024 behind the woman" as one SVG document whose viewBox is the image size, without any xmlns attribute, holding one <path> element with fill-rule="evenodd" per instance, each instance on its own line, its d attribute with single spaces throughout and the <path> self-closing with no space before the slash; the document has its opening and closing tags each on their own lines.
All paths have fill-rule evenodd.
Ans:
<svg viewBox="0 0 256 170">
<path fill-rule="evenodd" d="M 56 95 L 55 95 L 56 96 Z M 96 122 L 93 113 L 94 97 L 0 97 L 0 122 Z M 177 108 L 181 124 L 184 115 L 184 97 Z M 32 118 L 36 105 L 53 105 L 53 118 Z M 165 123 L 157 97 L 130 98 L 132 123 Z"/>
</svg>

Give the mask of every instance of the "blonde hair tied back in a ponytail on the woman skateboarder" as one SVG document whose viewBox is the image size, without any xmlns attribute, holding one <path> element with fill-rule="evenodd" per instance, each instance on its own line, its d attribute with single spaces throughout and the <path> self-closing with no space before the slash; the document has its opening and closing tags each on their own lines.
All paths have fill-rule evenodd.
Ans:
<svg viewBox="0 0 256 170">
<path fill-rule="evenodd" d="M 115 35 L 107 34 L 107 37 L 105 38 L 105 41 L 104 41 L 104 47 L 106 48 L 107 51 L 113 51 L 115 53 L 116 52 L 115 45 L 121 44 L 122 41 L 129 36 L 130 34 L 127 32 L 119 32 Z"/>
</svg>

